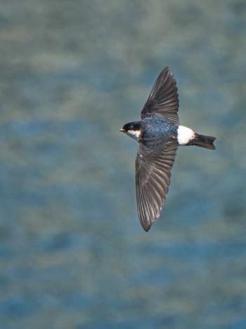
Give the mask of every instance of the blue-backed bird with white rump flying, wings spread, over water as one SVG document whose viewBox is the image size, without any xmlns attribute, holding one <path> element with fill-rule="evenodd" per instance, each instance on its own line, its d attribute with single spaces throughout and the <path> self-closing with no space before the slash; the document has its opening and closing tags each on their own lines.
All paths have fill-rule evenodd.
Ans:
<svg viewBox="0 0 246 329">
<path fill-rule="evenodd" d="M 126 123 L 124 132 L 138 141 L 135 161 L 136 204 L 143 230 L 148 232 L 163 208 L 171 168 L 179 146 L 215 149 L 216 137 L 199 135 L 179 124 L 179 94 L 171 69 L 158 75 L 141 110 L 141 120 Z"/>
</svg>

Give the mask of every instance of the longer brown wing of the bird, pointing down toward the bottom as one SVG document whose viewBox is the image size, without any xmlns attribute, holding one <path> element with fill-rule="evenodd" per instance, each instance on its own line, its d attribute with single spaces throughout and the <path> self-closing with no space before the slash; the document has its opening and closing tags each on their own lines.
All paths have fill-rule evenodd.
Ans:
<svg viewBox="0 0 246 329">
<path fill-rule="evenodd" d="M 177 147 L 176 139 L 172 137 L 157 147 L 139 144 L 136 155 L 136 201 L 138 217 L 146 232 L 162 211 Z"/>
</svg>

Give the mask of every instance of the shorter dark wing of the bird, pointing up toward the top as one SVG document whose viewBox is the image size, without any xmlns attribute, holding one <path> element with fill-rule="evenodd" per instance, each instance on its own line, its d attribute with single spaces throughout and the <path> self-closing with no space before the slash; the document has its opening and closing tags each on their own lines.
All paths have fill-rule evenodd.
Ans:
<svg viewBox="0 0 246 329">
<path fill-rule="evenodd" d="M 153 113 L 160 113 L 169 122 L 179 125 L 179 94 L 177 93 L 176 80 L 170 68 L 164 68 L 155 81 L 143 109 L 141 118 L 150 116 Z"/>
</svg>

